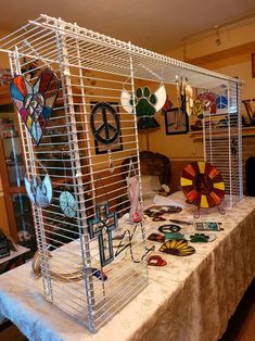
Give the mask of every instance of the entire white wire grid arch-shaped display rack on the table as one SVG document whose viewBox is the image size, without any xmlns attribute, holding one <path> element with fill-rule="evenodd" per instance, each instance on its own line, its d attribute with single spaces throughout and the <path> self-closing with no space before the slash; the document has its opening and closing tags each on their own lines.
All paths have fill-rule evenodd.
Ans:
<svg viewBox="0 0 255 341">
<path fill-rule="evenodd" d="M 195 88 L 226 87 L 231 110 L 237 113 L 233 116 L 228 111 L 229 134 L 224 136 L 228 146 L 222 148 L 220 139 L 214 137 L 211 125 L 206 124 L 205 160 L 218 167 L 221 162 L 224 177 L 229 177 L 227 190 L 230 195 L 238 193 L 240 200 L 240 83 L 47 15 L 29 21 L 1 39 L 0 49 L 9 53 L 13 75 L 36 78 L 39 70 L 48 67 L 61 80 L 60 96 L 39 147 L 35 147 L 20 118 L 23 151 L 28 178 L 35 174 L 43 176 L 46 167 L 53 184 L 51 205 L 47 209 L 33 206 L 46 298 L 84 321 L 91 331 L 97 331 L 148 285 L 144 261 L 133 262 L 128 248 L 125 249 L 126 255 L 125 251 L 123 253 L 123 261 L 117 258 L 103 268 L 109 277 L 106 281 L 93 276 L 93 268 L 100 267 L 99 249 L 97 239 L 90 240 L 87 229 L 87 222 L 94 216 L 94 206 L 100 202 L 107 200 L 111 211 L 117 212 L 118 217 L 129 210 L 124 180 L 127 174 L 122 172 L 122 163 L 127 157 L 137 157 L 135 168 L 140 176 L 136 115 L 125 112 L 119 104 L 124 85 L 132 96 L 137 79 L 155 83 L 161 78 L 165 84 L 174 85 L 176 76 L 184 76 Z M 122 148 L 101 146 L 104 151 L 112 151 L 113 173 L 110 172 L 107 153 L 94 152 L 97 146 L 89 121 L 91 108 L 97 102 L 112 103 L 120 118 L 118 142 Z M 238 123 L 234 128 L 230 124 L 233 119 Z M 206 116 L 207 121 L 213 118 Z M 233 137 L 238 142 L 238 162 L 229 153 Z M 226 157 L 221 161 L 215 157 L 222 153 L 226 153 L 228 164 Z M 233 164 L 239 173 L 228 169 Z M 59 207 L 63 190 L 69 191 L 78 204 L 75 218 L 67 218 Z M 122 236 L 126 229 L 133 231 L 135 226 L 119 223 L 115 237 Z M 136 260 L 145 252 L 143 224 L 135 230 L 132 252 Z M 77 268 L 82 269 L 81 280 L 66 280 L 65 274 Z M 52 269 L 65 281 L 52 276 Z"/>
</svg>

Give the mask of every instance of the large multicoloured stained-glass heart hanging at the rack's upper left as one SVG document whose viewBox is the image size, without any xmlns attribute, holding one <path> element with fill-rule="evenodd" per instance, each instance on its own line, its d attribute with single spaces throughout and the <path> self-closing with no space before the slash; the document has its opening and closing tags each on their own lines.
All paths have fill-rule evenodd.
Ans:
<svg viewBox="0 0 255 341">
<path fill-rule="evenodd" d="M 50 68 L 46 68 L 34 85 L 21 75 L 15 76 L 11 81 L 12 101 L 36 146 L 40 143 L 43 136 L 59 88 L 60 80 Z"/>
</svg>

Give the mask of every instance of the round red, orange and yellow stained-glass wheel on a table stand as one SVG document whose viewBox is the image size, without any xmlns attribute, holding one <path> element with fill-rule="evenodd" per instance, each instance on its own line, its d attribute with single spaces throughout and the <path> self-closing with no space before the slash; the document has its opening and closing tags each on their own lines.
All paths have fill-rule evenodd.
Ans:
<svg viewBox="0 0 255 341">
<path fill-rule="evenodd" d="M 225 195 L 225 184 L 219 171 L 202 161 L 190 163 L 183 168 L 180 185 L 186 198 L 203 209 L 218 206 Z"/>
</svg>

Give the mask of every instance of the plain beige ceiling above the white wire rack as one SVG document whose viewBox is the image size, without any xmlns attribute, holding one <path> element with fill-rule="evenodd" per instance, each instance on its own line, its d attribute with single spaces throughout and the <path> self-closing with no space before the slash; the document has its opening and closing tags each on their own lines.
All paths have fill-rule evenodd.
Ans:
<svg viewBox="0 0 255 341">
<path fill-rule="evenodd" d="M 40 13 L 165 52 L 186 36 L 255 14 L 255 0 L 1 0 L 0 28 Z"/>
</svg>

